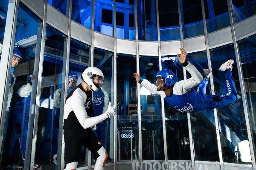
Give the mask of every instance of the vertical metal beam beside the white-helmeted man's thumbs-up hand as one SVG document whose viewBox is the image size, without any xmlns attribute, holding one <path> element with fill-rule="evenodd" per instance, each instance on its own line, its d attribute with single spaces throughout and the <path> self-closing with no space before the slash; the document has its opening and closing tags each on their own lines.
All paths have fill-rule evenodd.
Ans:
<svg viewBox="0 0 256 170">
<path fill-rule="evenodd" d="M 113 0 L 113 36 L 114 36 L 114 58 L 113 58 L 113 68 L 114 68 L 114 105 L 116 107 L 116 0 Z M 112 84 L 113 85 L 113 84 Z M 111 118 L 113 119 L 113 118 Z M 114 170 L 117 170 L 117 115 L 114 116 Z"/>
</svg>

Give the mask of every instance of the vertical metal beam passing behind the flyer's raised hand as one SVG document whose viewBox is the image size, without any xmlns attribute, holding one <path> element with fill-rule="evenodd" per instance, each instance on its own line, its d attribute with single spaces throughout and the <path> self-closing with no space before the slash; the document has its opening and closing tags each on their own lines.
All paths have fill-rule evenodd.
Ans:
<svg viewBox="0 0 256 170">
<path fill-rule="evenodd" d="M 183 33 L 183 8 L 182 8 L 182 0 L 178 0 L 178 13 L 179 13 L 179 25 L 180 25 L 180 46 L 181 48 L 184 48 L 184 33 Z M 183 76 L 184 79 L 186 79 L 186 69 L 183 67 Z M 190 155 L 191 155 L 191 164 L 192 164 L 192 170 L 195 170 L 195 151 L 194 151 L 194 143 L 192 138 L 192 128 L 191 128 L 191 119 L 190 119 L 190 113 L 187 113 L 188 117 L 188 130 L 189 130 L 189 146 L 190 146 Z"/>
</svg>

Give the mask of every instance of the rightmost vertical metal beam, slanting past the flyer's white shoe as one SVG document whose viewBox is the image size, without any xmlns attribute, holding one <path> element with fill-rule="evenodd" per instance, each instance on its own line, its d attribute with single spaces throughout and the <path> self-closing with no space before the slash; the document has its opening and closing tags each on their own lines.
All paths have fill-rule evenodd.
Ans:
<svg viewBox="0 0 256 170">
<path fill-rule="evenodd" d="M 238 50 L 237 42 L 236 42 L 236 31 L 235 31 L 235 27 L 234 27 L 233 8 L 232 7 L 233 7 L 232 1 L 227 0 L 227 8 L 228 8 L 228 13 L 229 13 L 229 17 L 230 17 L 230 28 L 231 28 L 233 45 L 234 45 L 235 55 L 236 55 L 236 65 L 237 65 L 238 75 L 239 75 L 239 83 L 240 83 L 240 88 L 241 88 L 241 96 L 242 96 L 243 107 L 244 107 L 244 116 L 245 116 L 246 129 L 247 129 L 249 146 L 250 146 L 251 159 L 252 159 L 252 164 L 253 164 L 253 170 L 256 170 L 255 155 L 254 155 L 254 150 L 253 150 L 253 139 L 252 139 L 252 133 L 251 133 L 251 129 L 250 129 L 250 121 L 249 121 L 248 108 L 247 108 L 247 106 L 248 106 L 247 96 L 246 96 L 246 93 L 244 90 L 245 89 L 244 76 L 243 76 L 243 70 L 241 68 L 241 59 L 239 57 L 239 50 Z"/>
</svg>

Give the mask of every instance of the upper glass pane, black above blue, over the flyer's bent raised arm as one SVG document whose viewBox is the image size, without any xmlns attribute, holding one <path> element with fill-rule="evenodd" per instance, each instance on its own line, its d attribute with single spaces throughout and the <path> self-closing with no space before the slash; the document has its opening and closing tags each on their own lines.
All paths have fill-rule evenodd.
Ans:
<svg viewBox="0 0 256 170">
<path fill-rule="evenodd" d="M 181 17 L 183 26 L 183 37 L 195 37 L 204 34 L 201 0 L 181 0 Z"/>
</svg>

